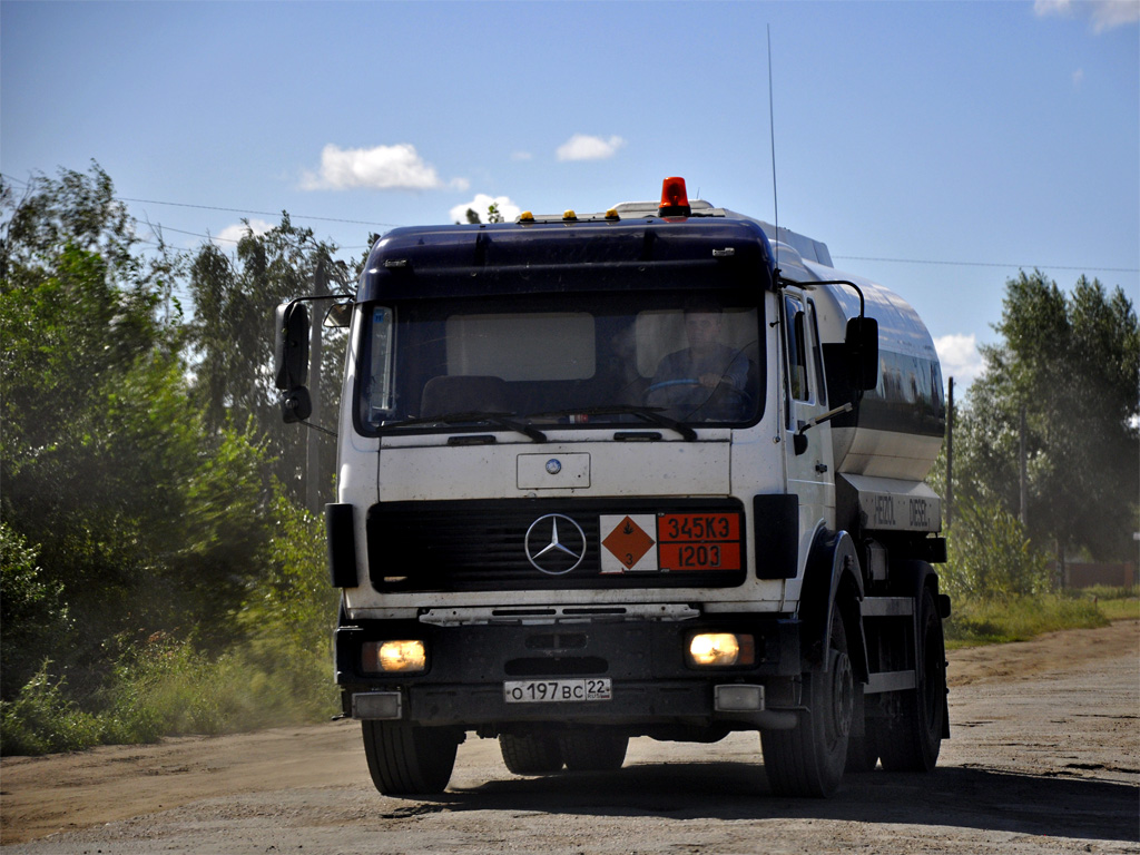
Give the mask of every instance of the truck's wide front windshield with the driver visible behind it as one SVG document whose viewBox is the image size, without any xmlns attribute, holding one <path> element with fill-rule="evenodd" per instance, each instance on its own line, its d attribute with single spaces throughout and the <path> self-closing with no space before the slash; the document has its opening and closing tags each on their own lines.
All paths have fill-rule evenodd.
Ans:
<svg viewBox="0 0 1140 855">
<path fill-rule="evenodd" d="M 748 302 L 687 292 L 368 304 L 357 425 L 532 435 L 559 425 L 752 423 L 764 366 L 760 312 Z"/>
</svg>

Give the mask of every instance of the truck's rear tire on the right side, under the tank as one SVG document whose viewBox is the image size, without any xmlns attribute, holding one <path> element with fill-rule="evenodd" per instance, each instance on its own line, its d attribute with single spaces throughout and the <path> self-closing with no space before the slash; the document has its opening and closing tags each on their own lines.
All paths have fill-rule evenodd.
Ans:
<svg viewBox="0 0 1140 855">
<path fill-rule="evenodd" d="M 938 762 L 946 724 L 946 646 L 930 588 L 919 597 L 915 687 L 901 692 L 898 715 L 878 740 L 888 772 L 930 772 Z"/>
</svg>

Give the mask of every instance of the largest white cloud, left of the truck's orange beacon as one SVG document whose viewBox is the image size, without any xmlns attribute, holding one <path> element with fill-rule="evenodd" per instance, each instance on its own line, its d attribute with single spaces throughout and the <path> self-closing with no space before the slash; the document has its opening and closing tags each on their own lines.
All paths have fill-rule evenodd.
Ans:
<svg viewBox="0 0 1140 855">
<path fill-rule="evenodd" d="M 453 187 L 465 190 L 465 179 L 445 181 L 435 168 L 425 163 L 416 147 L 407 142 L 374 148 L 341 148 L 329 142 L 320 152 L 320 170 L 306 172 L 306 190 L 347 190 L 366 187 L 374 190 L 434 190 Z"/>
</svg>

